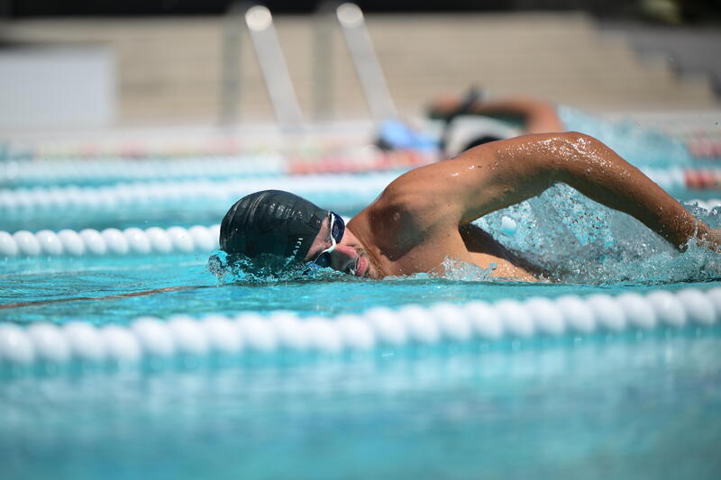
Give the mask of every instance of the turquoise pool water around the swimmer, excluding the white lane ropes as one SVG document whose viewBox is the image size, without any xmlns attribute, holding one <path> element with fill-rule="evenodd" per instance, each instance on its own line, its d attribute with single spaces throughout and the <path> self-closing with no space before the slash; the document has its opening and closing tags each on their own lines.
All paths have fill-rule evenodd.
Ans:
<svg viewBox="0 0 721 480">
<path fill-rule="evenodd" d="M 638 150 L 641 163 L 690 161 L 674 140 L 573 114 L 572 128 L 589 122 L 616 138 L 619 151 L 639 139 L 651 145 Z M 372 195 L 318 192 L 313 200 L 351 216 Z M 209 225 L 226 207 L 176 199 L 18 209 L 6 230 Z M 716 211 L 689 209 L 721 226 Z M 378 282 L 329 271 L 301 280 L 219 279 L 199 253 L 12 258 L 0 260 L 0 322 L 128 325 L 141 315 L 278 310 L 332 318 L 409 303 L 721 286 L 721 256 L 695 246 L 679 254 L 633 219 L 565 187 L 480 225 L 560 283 L 490 281 L 464 265 L 445 278 Z M 176 286 L 191 288 L 120 296 Z M 0 376 L 2 476 L 718 478 L 719 351 L 716 324 L 383 346 L 341 357 L 9 368 Z"/>
</svg>

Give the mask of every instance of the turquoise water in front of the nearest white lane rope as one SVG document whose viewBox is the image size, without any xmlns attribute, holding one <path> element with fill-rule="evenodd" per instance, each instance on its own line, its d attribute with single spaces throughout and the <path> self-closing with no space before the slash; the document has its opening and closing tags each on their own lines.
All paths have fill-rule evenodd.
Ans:
<svg viewBox="0 0 721 480">
<path fill-rule="evenodd" d="M 716 331 L 4 379 L 5 478 L 718 477 Z"/>
</svg>

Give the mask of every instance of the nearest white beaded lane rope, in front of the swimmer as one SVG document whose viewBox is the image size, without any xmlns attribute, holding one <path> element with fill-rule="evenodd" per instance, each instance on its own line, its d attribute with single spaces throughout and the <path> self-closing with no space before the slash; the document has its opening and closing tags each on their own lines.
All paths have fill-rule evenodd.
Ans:
<svg viewBox="0 0 721 480">
<path fill-rule="evenodd" d="M 467 344 L 497 340 L 588 335 L 593 332 L 653 331 L 695 326 L 713 328 L 721 319 L 721 288 L 616 296 L 564 295 L 524 302 L 415 304 L 398 310 L 379 307 L 333 318 L 299 317 L 292 312 L 234 317 L 177 315 L 141 317 L 129 325 L 88 322 L 29 326 L 0 324 L 0 365 L 43 363 L 141 365 L 152 358 L 282 355 L 306 352 L 341 356 L 345 352 Z"/>
</svg>

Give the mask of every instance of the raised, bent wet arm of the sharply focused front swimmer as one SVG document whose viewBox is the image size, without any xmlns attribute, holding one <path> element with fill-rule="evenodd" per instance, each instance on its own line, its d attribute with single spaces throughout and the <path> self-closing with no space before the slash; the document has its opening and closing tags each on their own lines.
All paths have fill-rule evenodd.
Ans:
<svg viewBox="0 0 721 480">
<path fill-rule="evenodd" d="M 405 177 L 460 224 L 563 182 L 599 204 L 634 216 L 678 249 L 694 237 L 716 249 L 721 244 L 718 231 L 697 220 L 638 168 L 599 140 L 578 132 L 491 142 L 458 158 L 418 168 L 397 182 L 406 183 Z"/>
</svg>

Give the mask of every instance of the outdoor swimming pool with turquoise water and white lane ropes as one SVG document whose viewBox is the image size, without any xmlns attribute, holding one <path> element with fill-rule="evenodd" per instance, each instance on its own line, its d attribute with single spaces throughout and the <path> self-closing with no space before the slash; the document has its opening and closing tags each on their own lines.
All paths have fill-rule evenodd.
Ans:
<svg viewBox="0 0 721 480">
<path fill-rule="evenodd" d="M 639 165 L 698 198 L 680 170 L 692 160 L 660 157 L 663 145 Z M 0 235 L 8 477 L 721 471 L 716 255 L 677 254 L 555 187 L 482 222 L 545 267 L 561 258 L 561 284 L 491 282 L 463 265 L 382 282 L 218 280 L 206 260 L 233 197 L 272 184 L 352 215 L 400 166 L 288 177 L 275 158 L 227 182 L 235 164 L 187 159 L 186 177 L 131 183 L 122 161 L 115 177 L 72 180 L 77 166 L 33 177 L 17 163 L 0 196 L 13 233 Z M 152 289 L 166 290 L 136 295 Z"/>
</svg>

